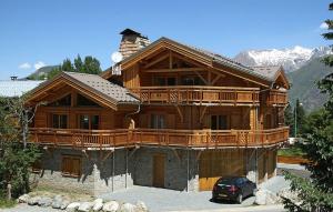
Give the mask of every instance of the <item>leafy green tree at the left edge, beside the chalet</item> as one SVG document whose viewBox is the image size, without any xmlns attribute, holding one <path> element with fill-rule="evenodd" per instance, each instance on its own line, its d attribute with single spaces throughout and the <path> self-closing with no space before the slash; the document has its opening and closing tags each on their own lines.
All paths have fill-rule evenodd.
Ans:
<svg viewBox="0 0 333 212">
<path fill-rule="evenodd" d="M 40 157 L 34 145 L 23 142 L 28 109 L 22 103 L 20 98 L 0 98 L 0 194 L 4 195 L 10 184 L 14 198 L 29 191 L 29 170 Z"/>
</svg>

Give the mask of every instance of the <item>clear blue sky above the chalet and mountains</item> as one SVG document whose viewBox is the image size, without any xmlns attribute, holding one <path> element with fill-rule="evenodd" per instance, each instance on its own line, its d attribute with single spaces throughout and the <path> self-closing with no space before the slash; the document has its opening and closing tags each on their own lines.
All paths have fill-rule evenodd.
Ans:
<svg viewBox="0 0 333 212">
<path fill-rule="evenodd" d="M 1 0 L 0 80 L 44 64 L 93 55 L 103 69 L 132 28 L 228 57 L 249 49 L 314 48 L 330 42 L 320 24 L 327 0 Z"/>
</svg>

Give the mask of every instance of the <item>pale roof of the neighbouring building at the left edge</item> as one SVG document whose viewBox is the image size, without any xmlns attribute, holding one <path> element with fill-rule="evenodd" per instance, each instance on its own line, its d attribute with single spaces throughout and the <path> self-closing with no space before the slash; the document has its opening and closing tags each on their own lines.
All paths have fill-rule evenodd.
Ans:
<svg viewBox="0 0 333 212">
<path fill-rule="evenodd" d="M 42 83 L 43 80 L 6 80 L 0 81 L 0 97 L 21 97 Z"/>
</svg>

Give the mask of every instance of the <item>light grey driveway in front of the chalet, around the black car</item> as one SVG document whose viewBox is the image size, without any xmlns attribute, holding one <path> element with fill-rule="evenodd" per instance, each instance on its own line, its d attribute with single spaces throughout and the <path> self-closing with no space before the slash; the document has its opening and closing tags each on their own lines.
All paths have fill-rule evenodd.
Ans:
<svg viewBox="0 0 333 212">
<path fill-rule="evenodd" d="M 287 169 L 290 171 L 299 171 L 305 173 L 301 166 L 283 166 L 279 165 L 278 173 L 281 172 L 281 169 Z M 274 193 L 280 191 L 283 188 L 289 186 L 289 182 L 284 180 L 282 175 L 278 175 L 273 179 L 270 179 L 268 182 L 261 185 Z M 243 208 L 244 210 L 252 210 L 251 206 L 254 202 L 254 196 L 250 196 L 240 204 L 234 204 L 232 202 L 211 202 L 211 191 L 204 192 L 180 192 L 174 190 L 149 188 L 149 186 L 133 186 L 128 190 L 117 191 L 114 193 L 109 193 L 101 195 L 104 200 L 117 200 L 120 202 L 130 202 L 135 204 L 138 200 L 143 201 L 151 212 L 155 211 L 191 211 L 191 210 L 218 210 L 218 209 L 232 209 Z M 13 209 L 0 210 L 3 212 L 58 212 L 59 210 L 53 210 L 50 208 L 38 208 L 29 206 L 27 204 L 19 204 Z"/>
</svg>

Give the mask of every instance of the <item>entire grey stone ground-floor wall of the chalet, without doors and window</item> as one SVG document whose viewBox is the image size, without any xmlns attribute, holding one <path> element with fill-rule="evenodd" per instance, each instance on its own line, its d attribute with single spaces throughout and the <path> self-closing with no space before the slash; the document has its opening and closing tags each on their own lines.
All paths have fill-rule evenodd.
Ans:
<svg viewBox="0 0 333 212">
<path fill-rule="evenodd" d="M 204 150 L 206 151 L 206 150 Z M 262 150 L 261 150 L 262 151 Z M 261 151 L 258 151 L 260 154 Z M 41 186 L 99 195 L 135 185 L 153 186 L 153 157 L 164 155 L 164 188 L 179 191 L 199 191 L 199 150 L 150 148 L 110 151 L 85 151 L 54 149 L 43 152 L 42 170 L 31 174 L 31 181 Z M 255 150 L 244 151 L 244 173 L 258 182 Z M 81 176 L 61 174 L 62 155 L 81 158 Z M 104 160 L 103 160 L 104 159 Z M 114 160 L 114 162 L 113 162 Z M 114 164 L 114 168 L 113 168 Z"/>
</svg>

